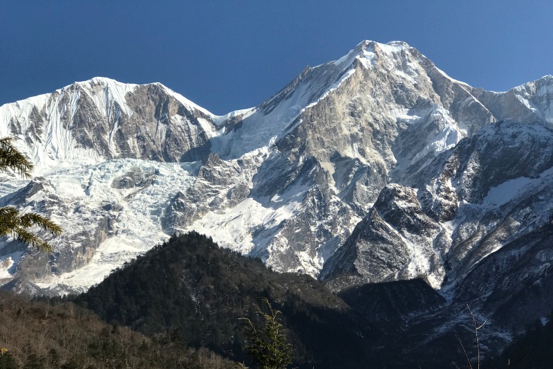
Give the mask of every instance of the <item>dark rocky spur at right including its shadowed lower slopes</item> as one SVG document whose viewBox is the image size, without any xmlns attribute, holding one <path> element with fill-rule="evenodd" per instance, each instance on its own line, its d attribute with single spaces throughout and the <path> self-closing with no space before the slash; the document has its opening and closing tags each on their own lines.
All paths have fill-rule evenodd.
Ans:
<svg viewBox="0 0 553 369">
<path fill-rule="evenodd" d="M 412 187 L 382 189 L 321 278 L 346 296 L 366 282 L 422 278 L 447 301 L 413 310 L 402 330 L 435 345 L 467 323 L 469 304 L 488 322 L 489 345 L 505 345 L 553 309 L 552 144 L 543 123 L 492 123 L 464 138 Z"/>
</svg>

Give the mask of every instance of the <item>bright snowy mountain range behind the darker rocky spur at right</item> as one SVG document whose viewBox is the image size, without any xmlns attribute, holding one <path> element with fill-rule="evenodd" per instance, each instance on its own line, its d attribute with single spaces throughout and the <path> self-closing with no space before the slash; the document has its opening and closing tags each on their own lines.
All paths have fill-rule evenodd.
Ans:
<svg viewBox="0 0 553 369">
<path fill-rule="evenodd" d="M 5 196 L 3 204 L 92 222 L 57 247 L 55 259 L 86 240 L 78 262 L 50 260 L 37 273 L 31 260 L 40 256 L 11 243 L 3 258 L 12 272 L 3 275 L 35 270 L 41 287 L 55 289 L 60 276 L 99 255 L 122 263 L 171 233 L 196 229 L 275 270 L 317 276 L 388 184 L 417 187 L 440 155 L 498 118 L 549 124 L 550 83 L 545 76 L 505 93 L 474 89 L 403 42 L 364 41 L 335 62 L 307 67 L 258 107 L 224 116 L 162 84 L 106 78 L 20 100 L 19 113 L 17 103 L 3 105 L 0 134 L 21 138 L 19 147 L 44 167 L 30 187 L 3 174 L 1 195 L 19 190 L 19 199 Z M 513 99 L 516 109 L 505 109 Z M 182 178 L 177 186 L 171 170 Z M 148 213 L 138 222 L 157 235 L 146 244 L 126 226 L 136 211 Z M 118 242 L 129 247 L 118 252 Z"/>
</svg>

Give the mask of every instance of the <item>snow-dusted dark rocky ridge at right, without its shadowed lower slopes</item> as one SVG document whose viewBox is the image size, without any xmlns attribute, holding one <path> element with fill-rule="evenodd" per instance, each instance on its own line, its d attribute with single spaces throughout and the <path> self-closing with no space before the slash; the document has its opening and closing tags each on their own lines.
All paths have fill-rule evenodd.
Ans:
<svg viewBox="0 0 553 369">
<path fill-rule="evenodd" d="M 487 125 L 424 168 L 414 188 L 384 188 L 322 276 L 424 278 L 448 294 L 488 255 L 550 223 L 552 176 L 550 128 Z"/>
</svg>

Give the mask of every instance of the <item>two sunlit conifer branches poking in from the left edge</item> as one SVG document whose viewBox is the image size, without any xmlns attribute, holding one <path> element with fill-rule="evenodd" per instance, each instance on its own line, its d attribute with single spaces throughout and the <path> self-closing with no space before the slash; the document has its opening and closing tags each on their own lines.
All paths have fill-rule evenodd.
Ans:
<svg viewBox="0 0 553 369">
<path fill-rule="evenodd" d="M 30 177 L 33 165 L 12 144 L 11 137 L 0 138 L 0 170 L 13 170 L 23 177 Z M 11 206 L 0 207 L 0 237 L 12 235 L 19 242 L 50 252 L 52 247 L 28 228 L 38 226 L 53 235 L 62 234 L 62 228 L 50 219 L 35 213 L 20 214 Z"/>
</svg>

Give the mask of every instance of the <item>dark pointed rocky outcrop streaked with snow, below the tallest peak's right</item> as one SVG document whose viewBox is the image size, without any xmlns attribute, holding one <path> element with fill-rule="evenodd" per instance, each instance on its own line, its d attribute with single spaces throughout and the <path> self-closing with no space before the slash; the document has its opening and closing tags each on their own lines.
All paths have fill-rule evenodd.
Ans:
<svg viewBox="0 0 553 369">
<path fill-rule="evenodd" d="M 355 285 L 426 278 L 439 288 L 444 270 L 433 240 L 440 231 L 423 212 L 416 190 L 389 184 L 344 246 L 326 262 L 321 278 L 353 275 Z"/>
</svg>

